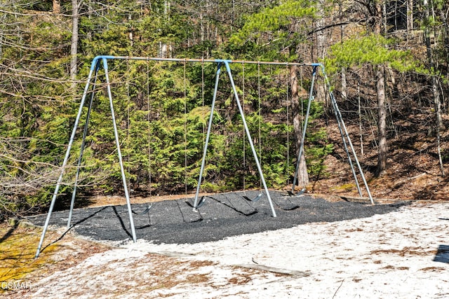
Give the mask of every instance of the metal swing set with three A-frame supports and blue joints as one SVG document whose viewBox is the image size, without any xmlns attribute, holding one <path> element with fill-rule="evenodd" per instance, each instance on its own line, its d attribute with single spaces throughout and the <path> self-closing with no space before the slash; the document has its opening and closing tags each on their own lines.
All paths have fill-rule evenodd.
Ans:
<svg viewBox="0 0 449 299">
<path fill-rule="evenodd" d="M 211 128 L 213 127 L 213 116 L 214 116 L 214 110 L 215 110 L 215 104 L 216 104 L 216 100 L 217 100 L 217 90 L 219 87 L 219 81 L 220 81 L 220 74 L 222 72 L 222 69 L 224 68 L 227 76 L 229 78 L 229 83 L 232 86 L 232 92 L 234 94 L 234 99 L 236 102 L 236 105 L 239 109 L 239 114 L 241 116 L 241 121 L 243 123 L 243 127 L 244 127 L 244 134 L 246 134 L 246 137 L 248 139 L 248 143 L 250 145 L 250 150 L 251 153 L 253 154 L 253 158 L 255 160 L 255 165 L 257 166 L 257 173 L 259 174 L 259 178 L 260 178 L 260 187 L 261 189 L 263 188 L 265 195 L 267 197 L 267 202 L 269 203 L 269 208 L 272 211 L 272 216 L 276 217 L 276 211 L 274 209 L 273 206 L 273 202 L 272 202 L 272 198 L 270 197 L 269 194 L 269 190 L 267 187 L 267 183 L 264 179 L 264 174 L 262 173 L 262 167 L 260 165 L 260 158 L 257 156 L 257 151 L 255 149 L 255 145 L 253 143 L 253 139 L 251 137 L 250 134 L 250 130 L 248 128 L 248 124 L 246 122 L 246 118 L 245 118 L 245 113 L 244 113 L 244 96 L 245 96 L 245 92 L 244 92 L 244 77 L 243 77 L 243 105 L 241 102 L 241 99 L 239 98 L 239 92 L 237 91 L 236 88 L 236 84 L 234 83 L 234 77 L 232 76 L 232 71 L 231 71 L 231 64 L 241 64 L 242 65 L 242 72 L 243 72 L 243 76 L 244 76 L 244 65 L 245 64 L 257 64 L 257 77 L 258 77 L 258 82 L 257 82 L 257 92 L 258 92 L 258 96 L 260 97 L 260 65 L 277 65 L 277 66 L 298 66 L 298 67 L 311 67 L 312 69 L 312 76 L 311 76 L 311 85 L 310 85 L 310 89 L 309 89 L 309 98 L 307 100 L 307 110 L 306 110 L 306 115 L 304 118 L 304 123 L 303 123 L 303 127 L 302 127 L 302 140 L 301 140 L 301 144 L 300 144 L 300 150 L 298 152 L 297 155 L 297 160 L 296 160 L 296 167 L 295 167 L 295 175 L 293 176 L 293 187 L 291 188 L 291 190 L 288 190 L 288 196 L 299 196 L 302 193 L 304 193 L 305 188 L 304 186 L 302 186 L 303 188 L 299 191 L 296 192 L 295 191 L 295 187 L 297 184 L 297 179 L 298 179 L 298 175 L 299 175 L 299 169 L 300 169 L 300 160 L 302 158 L 302 155 L 304 155 L 304 140 L 306 138 L 306 131 L 307 131 L 307 123 L 309 120 L 309 114 L 310 114 L 310 109 L 311 109 L 311 102 L 314 99 L 314 83 L 315 83 L 315 79 L 316 79 L 316 74 L 317 71 L 319 69 L 321 69 L 321 73 L 323 74 L 324 80 L 326 82 L 327 88 L 328 88 L 328 95 L 330 97 L 330 103 L 332 104 L 333 107 L 333 111 L 335 112 L 335 118 L 337 119 L 337 125 L 338 128 L 340 130 L 340 134 L 342 137 L 342 142 L 344 145 L 344 151 L 346 151 L 347 156 L 348 156 L 348 160 L 349 160 L 349 165 L 351 167 L 351 172 L 354 176 L 354 180 L 356 182 L 356 188 L 358 189 L 358 193 L 362 196 L 362 191 L 361 191 L 361 187 L 360 184 L 358 183 L 358 177 L 356 174 L 356 168 L 354 167 L 354 163 L 353 163 L 353 159 L 354 162 L 357 166 L 358 169 L 358 174 L 361 176 L 361 179 L 363 181 L 363 184 L 365 186 L 366 192 L 368 193 L 368 197 L 370 199 L 371 204 L 374 204 L 373 201 L 373 197 L 370 194 L 370 190 L 368 188 L 368 183 L 365 179 L 365 176 L 363 175 L 363 170 L 361 168 L 360 163 L 358 162 L 358 158 L 356 156 L 356 152 L 354 150 L 354 146 L 351 143 L 351 139 L 349 138 L 349 134 L 347 132 L 347 127 L 344 125 L 344 121 L 342 119 L 342 114 L 340 112 L 340 109 L 337 106 L 337 102 L 335 100 L 335 97 L 333 96 L 333 92 L 330 89 L 330 83 L 328 81 L 328 77 L 326 75 L 326 71 L 325 68 L 323 66 L 323 64 L 319 64 L 319 63 L 311 63 L 311 64 L 303 64 L 303 63 L 293 63 L 293 62 L 255 62 L 255 61 L 243 61 L 243 60 L 204 60 L 204 59 L 176 59 L 176 58 L 159 58 L 159 57 L 126 57 L 126 56 L 109 56 L 109 55 L 101 55 L 101 56 L 97 56 L 93 59 L 92 64 L 91 64 L 91 69 L 89 71 L 88 74 L 88 78 L 86 81 L 86 86 L 83 90 L 83 95 L 81 97 L 81 103 L 79 105 L 79 110 L 78 113 L 76 115 L 76 119 L 73 125 L 73 130 L 72 130 L 72 134 L 70 135 L 70 139 L 69 139 L 69 144 L 67 145 L 67 151 L 65 153 L 65 158 L 62 162 L 62 167 L 61 167 L 61 172 L 60 172 L 60 176 L 58 178 L 58 181 L 56 183 L 55 186 L 55 191 L 53 193 L 53 197 L 51 200 L 51 204 L 50 204 L 50 208 L 48 210 L 48 214 L 46 217 L 46 221 L 43 225 L 43 232 L 41 235 L 41 239 L 39 241 L 39 246 L 37 248 L 36 251 L 36 258 L 39 257 L 39 253 L 41 252 L 41 246 L 43 244 L 43 239 L 46 235 L 46 230 L 48 229 L 48 223 L 50 222 L 50 218 L 51 218 L 51 214 L 53 212 L 53 209 L 55 207 L 55 201 L 56 198 L 58 196 L 59 193 L 59 189 L 60 186 L 62 184 L 62 177 L 63 174 L 65 172 L 65 167 L 67 166 L 67 162 L 69 160 L 69 155 L 70 155 L 70 151 L 72 150 L 72 145 L 74 143 L 74 139 L 75 139 L 75 135 L 76 135 L 76 130 L 79 127 L 79 122 L 81 119 L 81 115 L 83 113 L 83 107 L 86 104 L 88 95 L 90 95 L 90 99 L 88 102 L 88 109 L 87 109 L 87 114 L 86 114 L 86 122 L 84 124 L 84 128 L 83 128 L 83 137 L 82 137 L 82 141 L 81 141 L 81 148 L 80 148 L 80 152 L 79 152 L 79 158 L 78 158 L 78 162 L 77 162 L 77 167 L 76 167 L 76 174 L 75 174 L 75 179 L 74 179 L 74 188 L 73 188 L 73 192 L 72 192 L 72 200 L 70 202 L 70 209 L 69 209 L 69 217 L 68 217 L 68 221 L 67 221 L 67 230 L 70 228 L 71 226 L 71 221 L 72 221 L 72 213 L 73 213 L 73 209 L 74 209 L 74 200 L 75 200 L 75 196 L 76 196 L 76 186 L 77 183 L 79 181 L 79 172 L 81 169 L 81 160 L 83 158 L 83 151 L 85 149 L 85 144 L 86 144 L 86 137 L 88 134 L 88 123 L 89 123 L 89 118 L 91 117 L 91 112 L 93 109 L 93 99 L 95 97 L 95 85 L 97 83 L 98 80 L 98 72 L 100 71 L 100 69 L 103 69 L 104 71 L 104 76 L 105 76 L 105 83 L 106 83 L 106 88 L 107 88 L 107 97 L 109 98 L 109 108 L 110 108 L 110 112 L 111 112 L 111 116 L 112 116 L 112 123 L 113 123 L 113 130 L 114 130 L 114 137 L 115 137 L 115 144 L 116 144 L 116 151 L 117 151 L 117 155 L 119 158 L 119 167 L 120 167 L 120 172 L 121 172 L 121 179 L 122 179 L 122 183 L 123 183 L 123 190 L 125 193 L 125 197 L 126 197 L 126 206 L 128 209 L 128 216 L 130 219 L 130 230 L 131 230 L 131 235 L 133 238 L 133 242 L 136 242 L 137 237 L 135 234 L 135 225 L 134 225 L 134 221 L 133 221 L 133 214 L 146 214 L 148 213 L 149 209 L 151 209 L 151 205 L 147 206 L 147 208 L 140 212 L 137 213 L 135 211 L 133 211 L 133 209 L 131 208 L 131 203 L 130 203 L 130 195 L 129 195 L 129 190 L 128 190 L 128 183 L 127 183 L 127 179 L 126 179 L 126 174 L 125 174 L 125 169 L 123 167 L 123 157 L 121 154 L 121 147 L 120 147 L 120 140 L 119 140 L 119 132 L 117 130 L 117 125 L 116 125 L 116 118 L 115 118 L 115 112 L 114 112 L 114 105 L 113 105 L 113 101 L 112 101 L 112 90 L 111 90 L 111 83 L 109 81 L 109 70 L 108 70 L 108 61 L 109 60 L 126 60 L 126 62 L 131 61 L 131 60 L 141 60 L 141 61 L 155 61 L 155 62 L 182 62 L 184 63 L 184 76 L 185 76 L 185 64 L 187 62 L 194 62 L 194 63 L 201 63 L 201 64 L 205 64 L 205 63 L 209 63 L 209 64 L 215 64 L 216 65 L 216 71 L 215 71 L 215 85 L 214 85 L 214 90 L 213 90 L 213 99 L 212 99 L 212 103 L 210 106 L 210 116 L 208 118 L 208 125 L 207 125 L 207 132 L 206 132 L 206 139 L 204 140 L 203 143 L 203 155 L 202 155 L 202 159 L 201 159 L 201 169 L 199 172 L 199 179 L 198 179 L 198 183 L 197 183 L 197 187 L 196 187 L 196 193 L 195 193 L 195 197 L 194 197 L 194 202 L 193 204 L 190 204 L 193 211 L 198 211 L 198 209 L 200 209 L 203 204 L 206 202 L 206 196 L 203 196 L 200 198 L 199 196 L 199 191 L 201 188 L 201 182 L 203 181 L 203 172 L 204 172 L 204 168 L 206 166 L 206 155 L 208 152 L 208 144 L 210 141 L 210 133 L 211 133 Z M 204 70 L 202 68 L 201 71 L 201 76 L 202 76 L 202 98 L 203 98 L 203 106 L 204 106 Z M 184 79 L 185 80 L 185 79 Z M 184 81 L 184 85 L 185 85 L 185 81 Z M 287 92 L 288 95 L 288 92 Z M 259 105 L 260 105 L 260 101 L 259 101 Z M 148 104 L 149 106 L 149 104 Z M 288 105 L 287 105 L 288 107 Z M 287 108 L 288 109 L 288 108 Z M 186 113 L 186 108 L 185 108 L 185 113 Z M 259 106 L 259 113 L 260 113 L 260 106 Z M 260 124 L 259 124 L 260 127 Z M 260 134 L 260 133 L 259 133 Z M 288 134 L 288 131 L 287 131 Z M 187 138 L 187 134 L 185 136 L 185 138 Z M 288 135 L 287 135 L 288 138 Z M 244 146 L 244 143 L 243 143 Z M 287 141 L 287 148 L 288 148 L 288 141 Z M 148 148 L 148 151 L 151 151 L 150 148 Z M 243 151 L 245 151 L 243 149 Z M 260 149 L 259 149 L 259 153 L 260 153 Z M 288 157 L 287 157 L 288 158 Z M 243 164 L 245 163 L 244 160 L 244 155 L 243 155 Z M 186 167 L 187 167 L 187 158 L 185 160 L 186 163 Z M 149 180 L 151 183 L 151 174 L 149 175 Z M 187 180 L 187 179 L 186 179 Z M 187 184 L 186 184 L 186 188 L 187 188 Z M 244 188 L 244 180 L 243 180 L 243 188 Z M 187 193 L 187 190 L 186 190 Z M 246 195 L 243 195 L 243 199 L 247 200 L 248 202 L 256 202 L 258 200 L 260 200 L 262 198 L 263 194 L 262 194 L 262 190 L 260 190 L 260 193 L 258 195 L 256 195 L 255 197 L 248 197 Z"/>
</svg>

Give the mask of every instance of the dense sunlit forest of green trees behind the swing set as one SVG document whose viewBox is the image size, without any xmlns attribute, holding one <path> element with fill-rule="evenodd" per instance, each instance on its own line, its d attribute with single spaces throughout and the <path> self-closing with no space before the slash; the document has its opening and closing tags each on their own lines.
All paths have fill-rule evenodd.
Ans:
<svg viewBox="0 0 449 299">
<path fill-rule="evenodd" d="M 330 81 L 318 74 L 300 186 L 356 193 L 330 83 L 373 196 L 446 199 L 448 14 L 444 0 L 1 0 L 0 219 L 48 207 L 97 55 L 321 62 Z M 216 64 L 123 60 L 109 68 L 132 195 L 192 193 Z M 232 68 L 265 179 L 291 188 L 312 69 Z M 223 77 L 201 191 L 260 188 Z M 78 182 L 84 202 L 123 193 L 105 82 L 95 86 Z M 80 148 L 77 138 L 62 202 Z"/>
</svg>

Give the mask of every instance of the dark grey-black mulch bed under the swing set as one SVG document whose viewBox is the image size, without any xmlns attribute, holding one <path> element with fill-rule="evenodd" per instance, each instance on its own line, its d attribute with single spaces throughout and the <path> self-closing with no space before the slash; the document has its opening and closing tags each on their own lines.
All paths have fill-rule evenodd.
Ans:
<svg viewBox="0 0 449 299">
<path fill-rule="evenodd" d="M 155 202 L 147 214 L 147 204 L 132 204 L 135 232 L 138 239 L 161 243 L 198 243 L 224 239 L 234 235 L 266 230 L 291 228 L 312 222 L 333 222 L 365 218 L 375 214 L 397 211 L 408 202 L 395 204 L 363 204 L 358 202 L 328 202 L 308 196 L 288 197 L 270 192 L 277 217 L 272 216 L 267 196 L 248 202 L 257 191 L 226 193 L 206 197 L 198 212 L 192 211 L 186 199 Z M 189 202 L 193 203 L 192 199 Z M 55 211 L 50 224 L 66 226 L 69 211 Z M 36 225 L 43 225 L 47 215 L 29 217 Z M 79 235 L 97 240 L 126 241 L 132 239 L 126 205 L 75 209 L 72 216 L 74 230 Z"/>
</svg>

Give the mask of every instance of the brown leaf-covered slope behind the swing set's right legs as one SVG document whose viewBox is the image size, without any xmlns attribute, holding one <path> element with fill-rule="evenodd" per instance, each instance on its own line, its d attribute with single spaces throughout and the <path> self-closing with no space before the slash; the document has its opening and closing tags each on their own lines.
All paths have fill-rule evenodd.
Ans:
<svg viewBox="0 0 449 299">
<path fill-rule="evenodd" d="M 422 117 L 424 116 L 414 116 L 413 122 L 420 123 Z M 449 116 L 444 116 L 444 121 L 449 127 Z M 421 123 L 424 124 L 424 120 Z M 377 151 L 375 146 L 371 146 L 376 142 L 375 134 L 363 136 L 362 151 L 361 141 L 357 138 L 360 134 L 358 125 L 347 122 L 347 130 L 351 134 L 370 193 L 377 199 L 388 200 L 449 200 L 449 130 L 441 132 L 443 165 L 440 165 L 435 134 L 424 133 L 428 127 L 424 125 L 420 127 L 403 120 L 398 120 L 396 127 L 399 128 L 398 132 L 388 137 L 387 170 L 382 176 L 376 177 L 374 174 L 377 167 Z M 351 176 L 347 154 L 344 152 L 341 135 L 334 120 L 329 120 L 326 130 L 329 142 L 335 146 L 335 152 L 323 161 L 327 175 L 311 177 L 307 189 L 310 193 L 326 198 L 358 197 L 360 195 Z M 367 197 L 359 174 L 358 181 L 362 186 L 363 197 Z"/>
</svg>

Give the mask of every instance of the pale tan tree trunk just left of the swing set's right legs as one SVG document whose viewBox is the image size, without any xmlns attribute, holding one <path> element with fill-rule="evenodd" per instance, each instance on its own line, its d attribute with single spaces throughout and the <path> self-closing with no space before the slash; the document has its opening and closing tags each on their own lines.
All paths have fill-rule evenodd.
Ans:
<svg viewBox="0 0 449 299">
<path fill-rule="evenodd" d="M 300 153 L 302 142 L 302 117 L 300 111 L 300 97 L 297 81 L 297 66 L 290 66 L 290 88 L 292 91 L 292 111 L 293 111 L 293 134 L 295 136 L 296 156 Z M 300 159 L 300 167 L 297 178 L 298 186 L 306 187 L 309 185 L 309 174 L 307 173 L 307 164 L 304 151 Z"/>
</svg>

